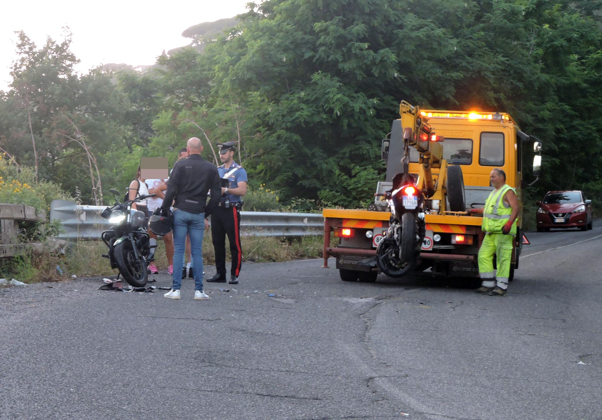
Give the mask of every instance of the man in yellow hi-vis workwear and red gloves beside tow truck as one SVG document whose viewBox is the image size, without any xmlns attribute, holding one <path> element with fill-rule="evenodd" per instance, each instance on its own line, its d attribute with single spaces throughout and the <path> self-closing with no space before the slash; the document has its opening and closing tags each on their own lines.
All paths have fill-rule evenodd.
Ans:
<svg viewBox="0 0 602 420">
<path fill-rule="evenodd" d="M 506 173 L 495 168 L 489 174 L 494 190 L 485 207 L 470 209 L 469 213 L 483 215 L 481 229 L 485 233 L 479 249 L 479 276 L 483 280 L 476 293 L 504 296 L 508 288 L 512 241 L 517 234 L 518 200 L 514 188 L 506 184 Z M 493 256 L 497 258 L 497 273 L 493 269 Z"/>
</svg>

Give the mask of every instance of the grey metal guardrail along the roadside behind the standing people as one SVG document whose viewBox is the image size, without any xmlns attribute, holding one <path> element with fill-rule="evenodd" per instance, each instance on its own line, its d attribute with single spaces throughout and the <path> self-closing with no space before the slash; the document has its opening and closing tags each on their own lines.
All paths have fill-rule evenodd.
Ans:
<svg viewBox="0 0 602 420">
<path fill-rule="evenodd" d="M 60 220 L 63 232 L 58 238 L 99 240 L 103 230 L 111 227 L 101 217 L 106 206 L 81 206 L 72 201 L 54 200 L 50 220 Z M 310 236 L 323 235 L 324 218 L 314 213 L 240 212 L 243 236 Z"/>
</svg>

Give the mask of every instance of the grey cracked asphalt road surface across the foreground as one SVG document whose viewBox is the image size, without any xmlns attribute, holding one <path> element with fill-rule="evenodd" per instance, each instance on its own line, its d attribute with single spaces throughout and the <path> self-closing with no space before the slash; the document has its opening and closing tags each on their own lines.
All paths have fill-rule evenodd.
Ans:
<svg viewBox="0 0 602 420">
<path fill-rule="evenodd" d="M 319 260 L 0 289 L 0 419 L 602 419 L 602 226 L 527 236 L 507 297 Z"/>
</svg>

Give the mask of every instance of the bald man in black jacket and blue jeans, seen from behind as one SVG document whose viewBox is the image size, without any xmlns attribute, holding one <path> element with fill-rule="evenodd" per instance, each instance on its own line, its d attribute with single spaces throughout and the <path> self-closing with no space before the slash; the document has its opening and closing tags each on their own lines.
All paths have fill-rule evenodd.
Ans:
<svg viewBox="0 0 602 420">
<path fill-rule="evenodd" d="M 161 208 L 167 210 L 173 204 L 173 283 L 172 289 L 164 294 L 169 299 L 180 298 L 182 283 L 182 261 L 186 235 L 194 262 L 194 299 L 209 298 L 203 292 L 203 230 L 208 226 L 207 217 L 215 211 L 222 195 L 222 186 L 217 168 L 200 157 L 203 146 L 196 137 L 186 144 L 188 158 L 177 161 L 173 167 L 165 199 Z M 207 192 L 211 190 L 209 203 L 205 206 Z"/>
</svg>

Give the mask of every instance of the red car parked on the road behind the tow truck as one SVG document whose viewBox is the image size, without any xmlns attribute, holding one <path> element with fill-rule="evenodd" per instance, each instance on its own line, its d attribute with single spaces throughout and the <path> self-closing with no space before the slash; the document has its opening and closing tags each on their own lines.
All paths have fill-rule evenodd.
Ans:
<svg viewBox="0 0 602 420">
<path fill-rule="evenodd" d="M 592 229 L 592 200 L 586 200 L 583 191 L 549 191 L 535 204 L 539 206 L 538 232 L 548 232 L 551 227 Z"/>
</svg>

